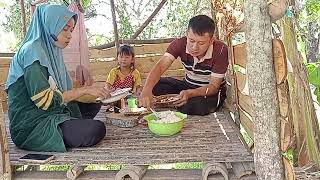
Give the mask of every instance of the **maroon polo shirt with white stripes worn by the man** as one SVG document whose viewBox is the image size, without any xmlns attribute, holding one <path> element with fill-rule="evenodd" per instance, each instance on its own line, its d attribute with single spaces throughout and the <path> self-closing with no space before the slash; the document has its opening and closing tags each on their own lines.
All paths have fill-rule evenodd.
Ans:
<svg viewBox="0 0 320 180">
<path fill-rule="evenodd" d="M 186 45 L 186 37 L 175 39 L 164 55 L 172 60 L 181 58 L 187 83 L 195 86 L 206 86 L 209 84 L 211 76 L 224 78 L 229 63 L 227 45 L 215 40 L 201 59 L 191 56 Z"/>
</svg>

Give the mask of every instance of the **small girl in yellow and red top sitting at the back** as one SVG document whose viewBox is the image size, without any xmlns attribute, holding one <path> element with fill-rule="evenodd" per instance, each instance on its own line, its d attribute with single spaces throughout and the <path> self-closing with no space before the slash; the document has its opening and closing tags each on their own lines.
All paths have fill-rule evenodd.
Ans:
<svg viewBox="0 0 320 180">
<path fill-rule="evenodd" d="M 132 88 L 139 96 L 142 90 L 141 76 L 134 65 L 134 50 L 129 45 L 123 45 L 117 52 L 118 67 L 111 69 L 106 86 L 108 89 Z"/>
</svg>

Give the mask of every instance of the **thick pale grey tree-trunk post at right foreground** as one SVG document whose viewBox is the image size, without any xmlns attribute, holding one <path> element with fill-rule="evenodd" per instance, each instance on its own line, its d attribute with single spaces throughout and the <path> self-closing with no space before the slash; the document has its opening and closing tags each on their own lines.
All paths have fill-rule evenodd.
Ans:
<svg viewBox="0 0 320 180">
<path fill-rule="evenodd" d="M 254 161 L 258 179 L 284 178 L 280 154 L 280 111 L 272 60 L 267 1 L 245 1 L 249 94 L 253 101 Z"/>
</svg>

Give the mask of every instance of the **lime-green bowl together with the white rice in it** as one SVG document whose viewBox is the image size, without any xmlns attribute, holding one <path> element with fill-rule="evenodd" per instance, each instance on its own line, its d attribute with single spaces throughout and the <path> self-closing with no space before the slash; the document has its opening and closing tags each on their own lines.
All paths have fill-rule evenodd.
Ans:
<svg viewBox="0 0 320 180">
<path fill-rule="evenodd" d="M 150 131 L 159 136 L 171 136 L 181 131 L 186 114 L 174 111 L 157 112 L 156 117 L 153 113 L 143 118 L 148 122 Z"/>
</svg>

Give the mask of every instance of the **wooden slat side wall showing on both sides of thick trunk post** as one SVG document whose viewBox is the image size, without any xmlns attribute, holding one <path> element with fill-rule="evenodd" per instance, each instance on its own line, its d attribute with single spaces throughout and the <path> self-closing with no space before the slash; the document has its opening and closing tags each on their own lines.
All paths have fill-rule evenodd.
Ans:
<svg viewBox="0 0 320 180">
<path fill-rule="evenodd" d="M 239 66 L 235 69 L 236 83 L 237 86 L 237 106 L 239 111 L 239 118 L 242 127 L 247 131 L 249 136 L 254 138 L 254 122 L 252 116 L 254 110 L 252 109 L 252 99 L 248 95 L 248 78 L 246 76 L 246 65 L 247 65 L 247 54 L 246 44 L 239 44 L 232 46 L 233 50 L 233 63 L 235 66 Z M 278 39 L 273 40 L 273 60 L 274 70 L 277 79 L 277 94 L 280 107 L 280 137 L 281 137 L 281 151 L 286 153 L 290 148 L 294 146 L 294 133 L 293 133 L 293 122 L 292 113 L 290 109 L 290 97 L 289 97 L 289 86 L 288 86 L 288 69 L 287 69 L 287 58 L 282 41 Z M 261 72 L 263 73 L 263 72 Z M 247 87 L 248 88 L 248 87 Z M 267 127 L 266 127 L 267 128 Z M 284 166 L 286 168 L 287 179 L 294 179 L 293 166 L 289 163 L 289 160 L 283 158 Z"/>
</svg>

